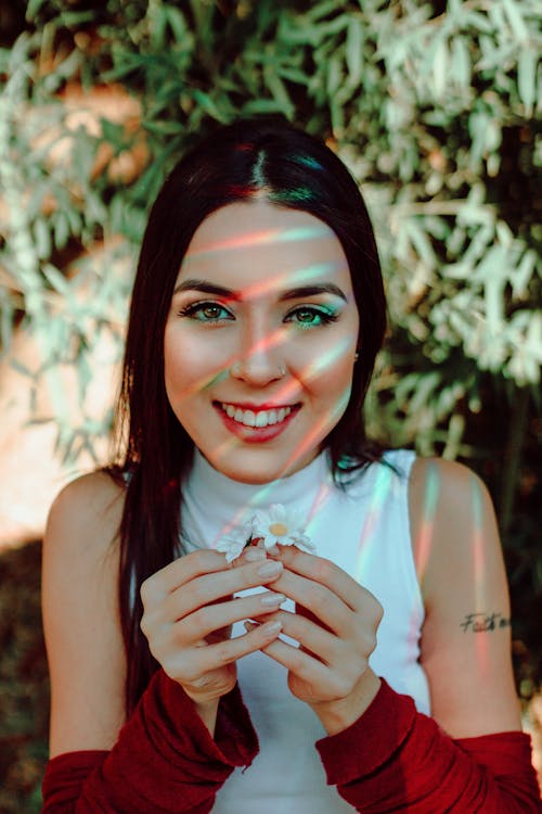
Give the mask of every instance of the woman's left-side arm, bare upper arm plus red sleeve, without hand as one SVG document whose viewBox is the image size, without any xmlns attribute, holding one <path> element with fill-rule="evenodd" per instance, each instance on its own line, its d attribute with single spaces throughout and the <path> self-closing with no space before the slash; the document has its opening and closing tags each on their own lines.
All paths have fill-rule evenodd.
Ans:
<svg viewBox="0 0 542 814">
<path fill-rule="evenodd" d="M 254 730 L 233 689 L 221 700 L 212 739 L 193 701 L 162 670 L 126 721 L 117 605 L 121 507 L 120 489 L 94 474 L 64 489 L 50 512 L 42 603 L 52 760 L 43 811 L 203 814 L 233 766 L 250 762 Z"/>
</svg>

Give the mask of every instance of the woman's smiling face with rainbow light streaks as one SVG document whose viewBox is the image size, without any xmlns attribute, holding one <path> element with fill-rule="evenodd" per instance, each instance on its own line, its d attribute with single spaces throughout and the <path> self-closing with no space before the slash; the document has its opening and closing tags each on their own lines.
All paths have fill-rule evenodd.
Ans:
<svg viewBox="0 0 542 814">
<path fill-rule="evenodd" d="M 266 483 L 309 463 L 350 396 L 359 317 L 335 232 L 263 199 L 195 231 L 164 339 L 175 415 L 215 469 Z"/>
</svg>

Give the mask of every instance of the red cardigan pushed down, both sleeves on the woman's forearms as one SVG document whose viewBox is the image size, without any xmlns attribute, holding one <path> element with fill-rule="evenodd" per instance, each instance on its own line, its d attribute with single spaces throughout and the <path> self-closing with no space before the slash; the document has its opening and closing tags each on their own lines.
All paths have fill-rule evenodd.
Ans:
<svg viewBox="0 0 542 814">
<path fill-rule="evenodd" d="M 383 679 L 369 709 L 315 743 L 327 783 L 367 814 L 542 812 L 530 738 L 520 732 L 452 740 Z M 207 814 L 258 739 L 237 687 L 219 704 L 215 739 L 179 684 L 151 679 L 107 751 L 49 761 L 42 814 Z"/>
</svg>

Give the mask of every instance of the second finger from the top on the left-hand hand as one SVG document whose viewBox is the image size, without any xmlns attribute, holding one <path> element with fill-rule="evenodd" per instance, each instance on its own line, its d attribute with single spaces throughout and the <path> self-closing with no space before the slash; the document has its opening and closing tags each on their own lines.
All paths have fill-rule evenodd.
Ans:
<svg viewBox="0 0 542 814">
<path fill-rule="evenodd" d="M 274 571 L 272 570 L 274 569 Z M 176 588 L 164 601 L 164 620 L 182 619 L 217 599 L 231 594 L 274 583 L 283 572 L 282 563 L 273 560 L 249 562 L 240 568 L 229 568 L 219 573 L 204 574 Z"/>
</svg>

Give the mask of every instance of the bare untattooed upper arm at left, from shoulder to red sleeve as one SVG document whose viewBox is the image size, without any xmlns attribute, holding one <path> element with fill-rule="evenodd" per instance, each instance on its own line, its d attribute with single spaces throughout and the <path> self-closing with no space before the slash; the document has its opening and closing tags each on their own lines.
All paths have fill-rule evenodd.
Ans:
<svg viewBox="0 0 542 814">
<path fill-rule="evenodd" d="M 124 487 L 105 471 L 54 500 L 42 557 L 42 619 L 51 695 L 51 756 L 111 749 L 124 723 L 126 657 L 118 608 Z"/>
</svg>

